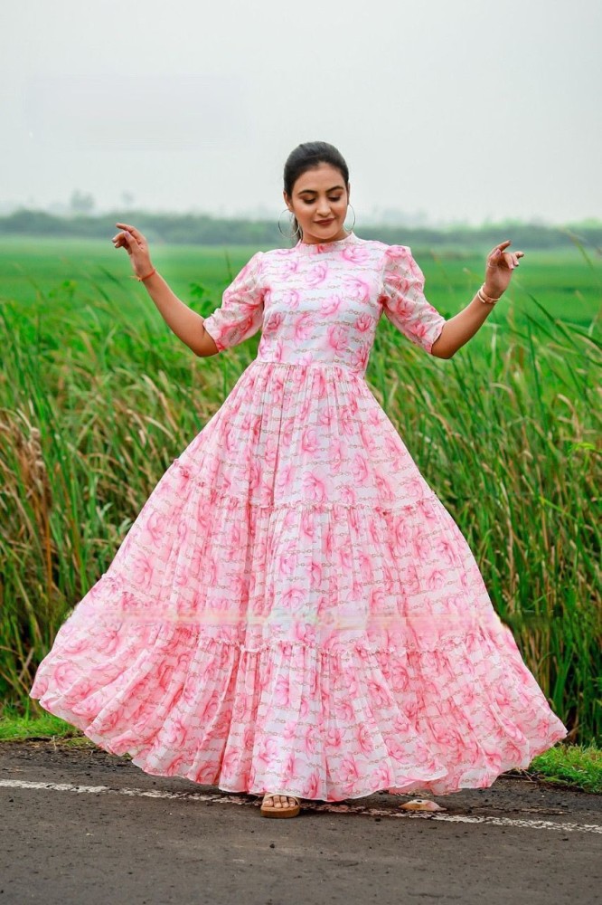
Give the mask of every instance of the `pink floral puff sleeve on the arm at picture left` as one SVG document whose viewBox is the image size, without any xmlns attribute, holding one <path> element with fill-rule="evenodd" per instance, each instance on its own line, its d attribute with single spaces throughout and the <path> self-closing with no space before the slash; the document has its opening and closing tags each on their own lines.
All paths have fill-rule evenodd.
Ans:
<svg viewBox="0 0 602 905">
<path fill-rule="evenodd" d="M 263 323 L 261 259 L 256 252 L 223 291 L 221 306 L 203 320 L 203 326 L 220 352 L 252 337 Z"/>
</svg>

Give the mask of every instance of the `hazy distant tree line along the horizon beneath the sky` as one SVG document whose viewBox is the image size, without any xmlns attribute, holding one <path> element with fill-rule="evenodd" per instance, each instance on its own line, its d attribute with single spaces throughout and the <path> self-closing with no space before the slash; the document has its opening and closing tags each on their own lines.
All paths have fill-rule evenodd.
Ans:
<svg viewBox="0 0 602 905">
<path fill-rule="evenodd" d="M 211 214 L 152 214 L 144 210 L 116 211 L 111 214 L 77 214 L 69 217 L 27 208 L 0 217 L 0 235 L 73 237 L 104 239 L 115 235 L 117 222 L 135 224 L 155 244 L 252 245 L 287 247 L 287 240 L 271 220 L 245 220 L 214 217 Z M 288 225 L 283 226 L 288 229 Z M 602 221 L 549 225 L 500 220 L 480 226 L 466 224 L 446 227 L 392 226 L 357 224 L 354 232 L 362 239 L 380 239 L 389 244 L 456 245 L 478 244 L 484 247 L 512 239 L 514 248 L 552 249 L 582 244 L 602 254 Z"/>
</svg>

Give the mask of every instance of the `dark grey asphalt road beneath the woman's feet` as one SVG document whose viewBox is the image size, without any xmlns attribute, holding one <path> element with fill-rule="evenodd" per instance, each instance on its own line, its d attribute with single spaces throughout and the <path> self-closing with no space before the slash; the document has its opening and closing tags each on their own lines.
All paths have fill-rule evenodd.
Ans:
<svg viewBox="0 0 602 905">
<path fill-rule="evenodd" d="M 506 774 L 443 812 L 400 811 L 415 797 L 273 820 L 91 742 L 3 743 L 0 905 L 602 902 L 602 796 Z"/>
</svg>

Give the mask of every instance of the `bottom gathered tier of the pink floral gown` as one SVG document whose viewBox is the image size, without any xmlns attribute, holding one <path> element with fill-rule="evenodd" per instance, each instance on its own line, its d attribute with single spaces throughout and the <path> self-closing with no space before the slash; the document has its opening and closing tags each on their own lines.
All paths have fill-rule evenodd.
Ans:
<svg viewBox="0 0 602 905">
<path fill-rule="evenodd" d="M 139 626 L 97 665 L 55 645 L 30 696 L 153 776 L 321 801 L 448 795 L 491 786 L 567 735 L 500 630 L 503 655 L 483 629 L 436 651 L 283 640 L 249 651 L 191 626 Z"/>
</svg>

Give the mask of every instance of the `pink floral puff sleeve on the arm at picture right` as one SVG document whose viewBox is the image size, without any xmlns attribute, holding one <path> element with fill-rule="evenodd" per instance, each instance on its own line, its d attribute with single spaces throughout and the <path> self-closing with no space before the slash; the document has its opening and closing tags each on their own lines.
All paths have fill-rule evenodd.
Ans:
<svg viewBox="0 0 602 905">
<path fill-rule="evenodd" d="M 446 319 L 425 299 L 424 281 L 409 245 L 389 245 L 382 281 L 385 317 L 415 346 L 430 353 Z"/>
</svg>

